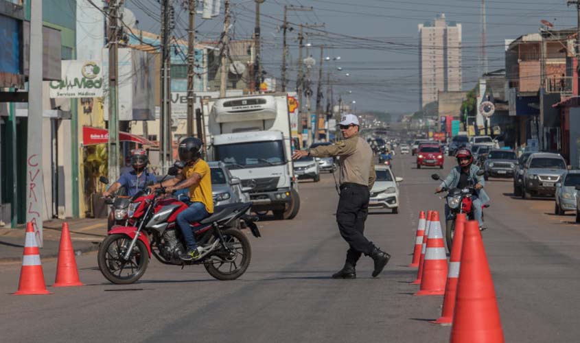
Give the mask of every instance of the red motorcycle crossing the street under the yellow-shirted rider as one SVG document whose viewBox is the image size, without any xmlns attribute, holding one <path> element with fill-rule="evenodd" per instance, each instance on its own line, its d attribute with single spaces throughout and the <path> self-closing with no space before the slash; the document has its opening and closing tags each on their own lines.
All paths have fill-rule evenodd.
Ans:
<svg viewBox="0 0 580 343">
<path fill-rule="evenodd" d="M 171 167 L 168 175 L 175 176 Z M 163 185 L 163 181 L 161 182 Z M 235 280 L 242 276 L 251 259 L 250 241 L 235 228 L 243 220 L 255 237 L 260 237 L 256 217 L 246 215 L 250 202 L 216 206 L 213 214 L 200 222 L 192 223 L 201 255 L 193 261 L 183 261 L 179 255 L 185 251 L 177 215 L 187 209 L 187 204 L 165 197 L 165 187 L 151 191 L 142 189 L 128 206 L 127 226 L 113 226 L 102 241 L 97 261 L 102 274 L 117 284 L 135 283 L 145 271 L 153 255 L 167 265 L 200 265 L 218 280 Z"/>
</svg>

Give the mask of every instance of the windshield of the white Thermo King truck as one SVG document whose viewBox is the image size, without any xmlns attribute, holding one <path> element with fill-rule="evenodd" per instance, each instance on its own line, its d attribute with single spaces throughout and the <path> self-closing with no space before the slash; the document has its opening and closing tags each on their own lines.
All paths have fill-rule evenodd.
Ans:
<svg viewBox="0 0 580 343">
<path fill-rule="evenodd" d="M 230 169 L 284 163 L 284 147 L 281 141 L 224 144 L 215 145 L 214 148 L 216 159 L 229 165 Z"/>
</svg>

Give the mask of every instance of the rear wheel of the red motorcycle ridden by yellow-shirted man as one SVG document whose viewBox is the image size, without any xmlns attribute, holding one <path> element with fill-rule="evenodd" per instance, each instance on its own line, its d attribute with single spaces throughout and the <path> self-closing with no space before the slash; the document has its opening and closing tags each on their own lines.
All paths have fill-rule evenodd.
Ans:
<svg viewBox="0 0 580 343">
<path fill-rule="evenodd" d="M 242 276 L 250 265 L 252 250 L 248 237 L 242 231 L 236 228 L 229 228 L 222 231 L 225 244 L 232 250 L 232 256 L 224 258 L 219 255 L 213 255 L 203 263 L 205 270 L 220 281 L 235 280 Z M 223 248 L 221 248 L 224 250 Z M 224 254 L 225 251 L 222 251 Z"/>
</svg>

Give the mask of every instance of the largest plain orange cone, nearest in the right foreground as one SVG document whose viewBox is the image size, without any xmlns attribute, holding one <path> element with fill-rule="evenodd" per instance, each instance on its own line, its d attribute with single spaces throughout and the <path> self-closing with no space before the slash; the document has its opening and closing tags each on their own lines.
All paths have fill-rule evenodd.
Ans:
<svg viewBox="0 0 580 343">
<path fill-rule="evenodd" d="M 504 342 L 494 280 L 476 220 L 465 224 L 451 342 Z"/>
</svg>

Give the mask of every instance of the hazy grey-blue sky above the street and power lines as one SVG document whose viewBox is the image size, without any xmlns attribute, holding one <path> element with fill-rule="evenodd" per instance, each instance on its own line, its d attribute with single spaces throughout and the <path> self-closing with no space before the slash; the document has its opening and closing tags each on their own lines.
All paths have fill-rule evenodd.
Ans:
<svg viewBox="0 0 580 343">
<path fill-rule="evenodd" d="M 174 3 L 182 1 L 174 0 Z M 233 0 L 234 38 L 251 38 L 255 18 L 255 3 Z M 134 10 L 143 29 L 159 32 L 159 3 L 154 0 L 126 0 Z M 288 11 L 290 23 L 325 23 L 323 29 L 311 29 L 310 54 L 320 56 L 319 45 L 325 45 L 324 56 L 340 60 L 325 63 L 324 72 L 332 71 L 335 99 L 338 93 L 347 101 L 356 100 L 357 110 L 385 110 L 393 113 L 419 109 L 419 49 L 417 25 L 432 21 L 445 13 L 448 21 L 463 26 L 463 89 L 474 87 L 478 78 L 480 54 L 480 5 L 477 0 L 266 0 L 262 4 L 262 60 L 264 68 L 278 78 L 282 33 L 277 29 L 283 18 L 283 6 L 313 7 L 312 12 Z M 140 10 L 146 8 L 148 14 Z M 222 2 L 223 10 L 223 2 Z M 487 56 L 489 71 L 504 68 L 504 39 L 513 39 L 538 32 L 540 20 L 555 23 L 555 29 L 576 25 L 575 8 L 566 1 L 486 1 Z M 178 10 L 176 36 L 186 34 L 187 16 Z M 157 15 L 156 18 L 154 16 Z M 554 20 L 556 19 L 556 20 Z M 223 15 L 203 21 L 197 17 L 198 39 L 218 39 Z M 294 87 L 297 78 L 297 33 L 287 33 L 290 45 L 288 78 Z M 343 70 L 338 71 L 341 67 Z M 316 67 L 312 80 L 317 81 Z M 349 73 L 349 76 L 346 76 Z M 314 89 L 315 91 L 315 89 Z"/>
</svg>

